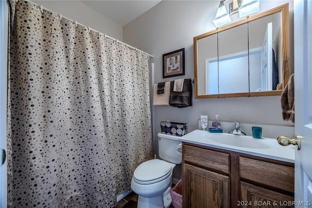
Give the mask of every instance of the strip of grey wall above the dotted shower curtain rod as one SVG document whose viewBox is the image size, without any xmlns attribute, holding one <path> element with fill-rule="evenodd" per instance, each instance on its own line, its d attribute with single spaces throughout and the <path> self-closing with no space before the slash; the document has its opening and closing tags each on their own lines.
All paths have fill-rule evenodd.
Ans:
<svg viewBox="0 0 312 208">
<path fill-rule="evenodd" d="M 89 26 L 101 33 L 122 41 L 122 27 L 79 0 L 31 0 L 43 7 L 62 14 L 73 21 Z"/>
</svg>

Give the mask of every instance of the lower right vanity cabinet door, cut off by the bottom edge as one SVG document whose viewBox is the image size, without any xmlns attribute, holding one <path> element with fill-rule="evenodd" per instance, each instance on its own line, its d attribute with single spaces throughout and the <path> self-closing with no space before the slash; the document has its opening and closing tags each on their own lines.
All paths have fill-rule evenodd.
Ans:
<svg viewBox="0 0 312 208">
<path fill-rule="evenodd" d="M 237 206 L 248 208 L 293 208 L 294 198 L 263 187 L 240 182 L 241 199 Z"/>
</svg>

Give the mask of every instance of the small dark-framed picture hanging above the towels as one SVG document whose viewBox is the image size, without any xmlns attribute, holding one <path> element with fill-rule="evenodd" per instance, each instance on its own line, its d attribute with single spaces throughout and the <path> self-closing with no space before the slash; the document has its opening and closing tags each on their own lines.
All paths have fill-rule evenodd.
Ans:
<svg viewBox="0 0 312 208">
<path fill-rule="evenodd" d="M 184 48 L 162 55 L 162 78 L 185 75 Z"/>
</svg>

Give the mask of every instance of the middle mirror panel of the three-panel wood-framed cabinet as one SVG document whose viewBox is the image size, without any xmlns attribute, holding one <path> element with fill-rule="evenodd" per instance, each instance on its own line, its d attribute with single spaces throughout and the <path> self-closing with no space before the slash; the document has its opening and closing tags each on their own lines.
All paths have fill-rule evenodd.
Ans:
<svg viewBox="0 0 312 208">
<path fill-rule="evenodd" d="M 248 93 L 248 25 L 219 32 L 218 43 L 218 94 Z"/>
</svg>

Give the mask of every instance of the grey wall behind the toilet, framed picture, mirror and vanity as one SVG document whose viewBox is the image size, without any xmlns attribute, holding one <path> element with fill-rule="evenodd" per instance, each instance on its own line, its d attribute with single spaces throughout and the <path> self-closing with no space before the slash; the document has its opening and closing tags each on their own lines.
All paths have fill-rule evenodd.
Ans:
<svg viewBox="0 0 312 208">
<path fill-rule="evenodd" d="M 194 78 L 193 37 L 215 29 L 213 19 L 219 0 L 163 0 L 155 7 L 130 22 L 123 28 L 123 40 L 154 58 L 155 83 L 172 81 L 174 77 L 162 79 L 162 54 L 185 48 L 185 78 Z M 260 11 L 289 2 L 291 51 L 293 51 L 293 2 L 292 0 L 261 0 Z M 238 20 L 238 14 L 231 17 Z M 293 56 L 293 54 L 292 54 Z M 154 144 L 160 121 L 170 120 L 189 124 L 189 131 L 198 126 L 200 115 L 220 115 L 219 120 L 225 122 L 267 125 L 293 125 L 282 120 L 280 96 L 244 97 L 223 99 L 196 99 L 192 107 L 176 108 L 171 106 L 154 106 L 153 108 Z M 244 131 L 244 129 L 242 129 Z M 157 152 L 156 148 L 156 152 Z"/>
</svg>

